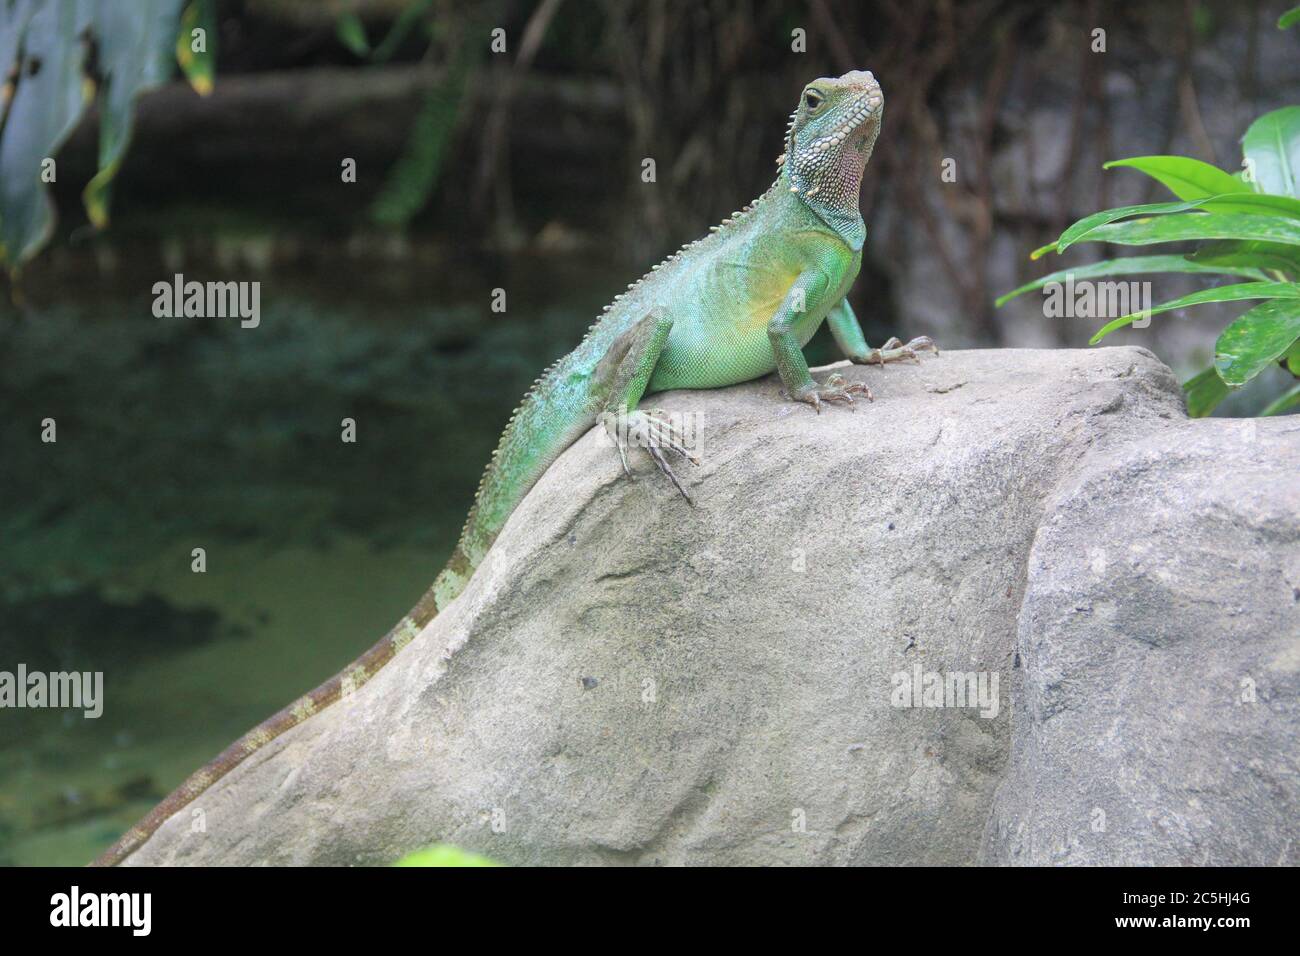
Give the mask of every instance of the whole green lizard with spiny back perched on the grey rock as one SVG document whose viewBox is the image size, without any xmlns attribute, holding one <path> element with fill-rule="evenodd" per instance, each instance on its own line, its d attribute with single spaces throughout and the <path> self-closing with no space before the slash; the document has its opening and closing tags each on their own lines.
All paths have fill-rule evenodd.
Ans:
<svg viewBox="0 0 1300 956">
<path fill-rule="evenodd" d="M 628 447 L 640 445 L 685 496 L 668 463 L 670 455 L 693 459 L 685 436 L 638 410 L 644 395 L 734 385 L 775 368 L 789 397 L 818 412 L 823 402 L 853 405 L 855 394 L 870 399 L 861 382 L 831 375 L 819 384 L 809 373 L 802 347 L 823 320 L 857 363 L 884 364 L 935 350 L 926 337 L 868 349 L 845 298 L 862 264 L 866 225 L 858 190 L 883 112 L 871 73 L 809 83 L 767 193 L 628 286 L 577 349 L 537 380 L 506 425 L 451 559 L 411 613 L 342 672 L 192 774 L 96 862 L 126 858 L 248 754 L 373 676 L 464 591 L 528 490 L 598 421 L 615 438 L 624 467 Z"/>
</svg>

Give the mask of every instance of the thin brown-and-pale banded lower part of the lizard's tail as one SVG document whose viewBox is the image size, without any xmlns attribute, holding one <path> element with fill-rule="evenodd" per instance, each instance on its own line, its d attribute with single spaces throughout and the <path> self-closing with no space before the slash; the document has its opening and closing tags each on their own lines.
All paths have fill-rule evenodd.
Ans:
<svg viewBox="0 0 1300 956">
<path fill-rule="evenodd" d="M 460 549 L 456 549 L 460 558 Z M 452 558 L 448 566 L 464 563 L 463 558 Z M 439 575 L 439 580 L 442 576 Z M 443 601 L 443 606 L 446 600 Z M 186 778 L 185 783 L 172 791 L 162 801 L 135 826 L 127 830 L 112 847 L 105 849 L 91 866 L 116 866 L 172 817 L 194 801 L 208 787 L 239 766 L 250 754 L 260 750 L 285 731 L 296 727 L 308 717 L 347 696 L 374 676 L 384 665 L 424 630 L 424 626 L 438 614 L 434 588 L 429 588 L 415 607 L 396 626 L 381 637 L 369 650 L 352 661 L 333 678 L 308 691 L 289 706 L 272 714 L 251 731 L 235 740 L 200 769 Z"/>
</svg>

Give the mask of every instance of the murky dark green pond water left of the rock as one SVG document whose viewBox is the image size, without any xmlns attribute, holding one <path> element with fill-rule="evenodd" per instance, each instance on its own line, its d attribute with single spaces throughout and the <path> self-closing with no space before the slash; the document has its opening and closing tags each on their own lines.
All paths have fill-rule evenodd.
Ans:
<svg viewBox="0 0 1300 956">
<path fill-rule="evenodd" d="M 264 277 L 256 329 L 153 317 L 156 268 L 3 316 L 0 670 L 103 671 L 105 700 L 4 711 L 0 864 L 88 861 L 384 633 L 519 398 L 627 282 L 577 258 L 430 272 Z"/>
</svg>

